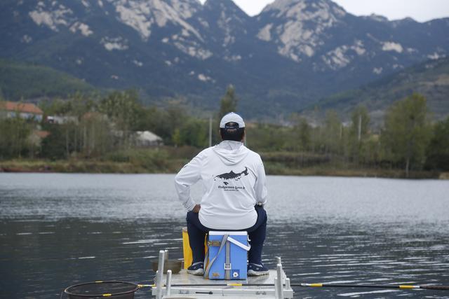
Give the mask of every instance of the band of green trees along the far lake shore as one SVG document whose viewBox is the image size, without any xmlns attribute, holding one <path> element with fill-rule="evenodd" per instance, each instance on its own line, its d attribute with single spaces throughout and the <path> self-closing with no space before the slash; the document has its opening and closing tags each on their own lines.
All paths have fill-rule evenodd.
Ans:
<svg viewBox="0 0 449 299">
<path fill-rule="evenodd" d="M 213 144 L 220 141 L 218 123 L 229 111 L 238 111 L 234 86 L 227 88 L 213 113 Z M 39 124 L 50 132 L 39 148 L 29 142 L 36 124 L 21 118 L 0 119 L 0 158 L 51 160 L 104 158 L 136 147 L 135 132 L 149 130 L 166 146 L 205 148 L 209 143 L 208 118 L 187 113 L 179 104 L 164 108 L 143 106 L 133 90 L 104 97 L 76 94 L 69 100 L 42 103 L 45 116 L 59 116 L 62 123 Z M 449 117 L 431 122 L 426 99 L 410 95 L 387 109 L 384 125 L 371 126 L 368 109 L 357 106 L 349 123 L 337 111 L 326 111 L 321 123 L 293 113 L 290 125 L 248 123 L 247 146 L 271 162 L 293 167 L 340 162 L 361 168 L 449 171 Z M 191 158 L 191 157 L 185 157 Z"/>
</svg>

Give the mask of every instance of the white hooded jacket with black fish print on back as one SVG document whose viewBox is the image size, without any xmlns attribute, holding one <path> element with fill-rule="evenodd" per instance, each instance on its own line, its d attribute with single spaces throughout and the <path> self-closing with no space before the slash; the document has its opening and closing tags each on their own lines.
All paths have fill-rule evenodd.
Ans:
<svg viewBox="0 0 449 299">
<path fill-rule="evenodd" d="M 255 204 L 267 202 L 262 159 L 238 141 L 222 141 L 206 148 L 177 174 L 175 187 L 187 211 L 195 206 L 190 186 L 199 180 L 206 191 L 199 221 L 207 228 L 250 228 L 257 220 Z"/>
</svg>

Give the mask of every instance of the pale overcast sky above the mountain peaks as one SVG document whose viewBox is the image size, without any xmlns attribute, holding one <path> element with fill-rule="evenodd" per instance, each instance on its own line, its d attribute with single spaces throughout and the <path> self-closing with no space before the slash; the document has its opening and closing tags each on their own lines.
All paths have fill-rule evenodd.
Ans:
<svg viewBox="0 0 449 299">
<path fill-rule="evenodd" d="M 206 0 L 200 0 L 204 3 Z M 273 0 L 234 0 L 248 15 L 257 15 Z M 383 15 L 389 20 L 414 18 L 425 22 L 449 17 L 449 0 L 334 0 L 354 15 Z"/>
</svg>

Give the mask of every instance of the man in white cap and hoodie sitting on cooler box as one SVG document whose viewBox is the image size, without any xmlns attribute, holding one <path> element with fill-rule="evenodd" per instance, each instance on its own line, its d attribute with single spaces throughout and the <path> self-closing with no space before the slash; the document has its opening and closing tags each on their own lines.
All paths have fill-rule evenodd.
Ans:
<svg viewBox="0 0 449 299">
<path fill-rule="evenodd" d="M 204 273 L 204 239 L 210 230 L 245 230 L 251 249 L 248 275 L 267 274 L 262 246 L 267 230 L 265 170 L 260 155 L 243 145 L 245 123 L 236 113 L 220 121 L 222 142 L 206 148 L 175 177 L 177 195 L 187 209 L 187 231 L 193 263 L 187 272 Z M 201 204 L 190 197 L 190 186 L 203 182 Z"/>
</svg>

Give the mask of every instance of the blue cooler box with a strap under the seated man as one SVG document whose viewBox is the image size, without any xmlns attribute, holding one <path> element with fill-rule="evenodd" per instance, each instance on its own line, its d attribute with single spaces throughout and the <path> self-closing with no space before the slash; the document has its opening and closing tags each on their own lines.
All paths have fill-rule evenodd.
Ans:
<svg viewBox="0 0 449 299">
<path fill-rule="evenodd" d="M 209 279 L 246 279 L 249 249 L 247 232 L 209 232 L 206 276 Z"/>
</svg>

